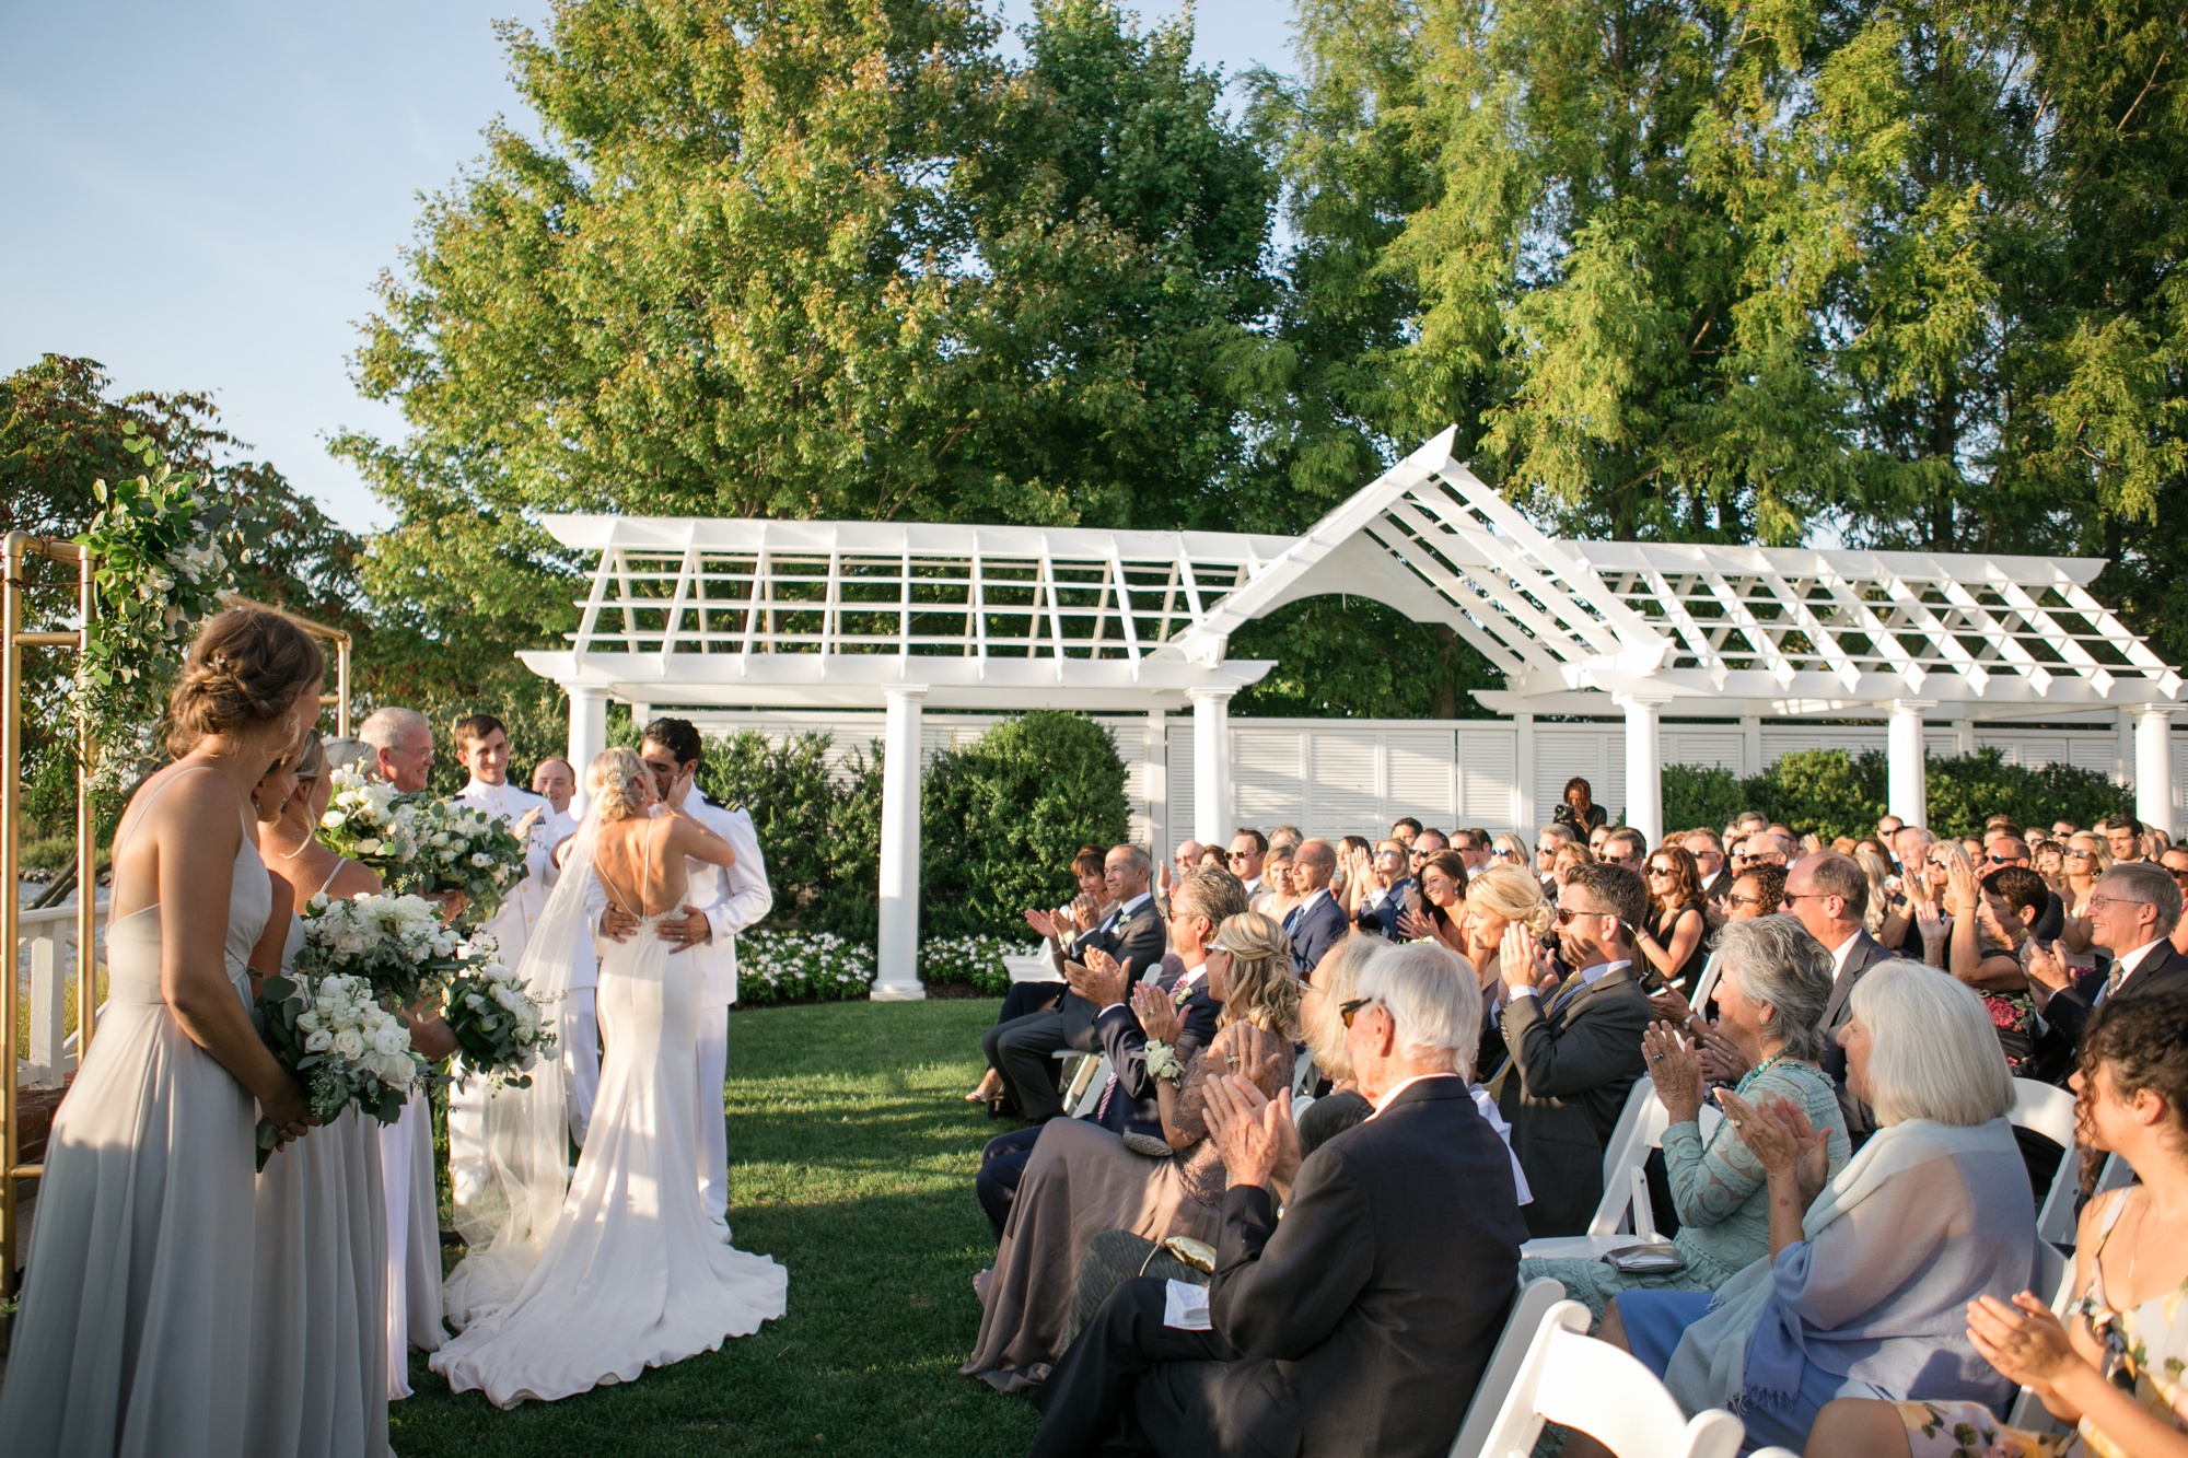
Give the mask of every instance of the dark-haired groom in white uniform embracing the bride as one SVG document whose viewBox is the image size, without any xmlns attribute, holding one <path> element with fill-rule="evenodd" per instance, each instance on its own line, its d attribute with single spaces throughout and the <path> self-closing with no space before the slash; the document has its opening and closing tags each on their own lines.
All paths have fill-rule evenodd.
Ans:
<svg viewBox="0 0 2188 1458">
<path fill-rule="evenodd" d="M 744 810 L 711 803 L 696 788 L 705 744 L 687 718 L 656 718 L 645 725 L 639 757 L 652 771 L 661 799 L 707 825 L 737 852 L 737 865 L 724 871 L 715 865 L 685 860 L 691 889 L 680 917 L 663 919 L 656 935 L 678 950 L 700 959 L 700 1027 L 698 1027 L 698 1195 L 707 1219 L 729 1239 L 729 1125 L 722 1116 L 722 1084 L 729 1077 L 729 1007 L 737 1000 L 737 933 L 759 922 L 775 906 L 768 887 L 768 863 L 759 852 L 759 834 Z M 604 935 L 621 941 L 637 919 L 608 909 L 600 895 Z"/>
</svg>

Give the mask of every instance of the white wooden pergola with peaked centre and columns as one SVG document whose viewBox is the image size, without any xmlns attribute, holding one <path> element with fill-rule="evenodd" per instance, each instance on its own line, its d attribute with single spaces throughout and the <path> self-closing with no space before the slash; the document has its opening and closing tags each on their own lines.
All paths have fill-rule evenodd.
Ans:
<svg viewBox="0 0 2188 1458">
<path fill-rule="evenodd" d="M 2092 558 L 1560 541 L 1444 431 L 1302 536 L 871 521 L 547 517 L 600 552 L 567 652 L 571 760 L 608 698 L 884 707 L 875 996 L 919 996 L 919 714 L 1192 705 L 1201 841 L 1232 825 L 1227 705 L 1269 672 L 1245 622 L 1322 593 L 1448 624 L 1514 716 L 1626 720 L 1626 819 L 1661 834 L 1659 722 L 1884 718 L 1890 810 L 1925 812 L 1923 711 L 2135 722 L 2142 819 L 2170 830 L 2181 676 L 2090 591 Z"/>
</svg>

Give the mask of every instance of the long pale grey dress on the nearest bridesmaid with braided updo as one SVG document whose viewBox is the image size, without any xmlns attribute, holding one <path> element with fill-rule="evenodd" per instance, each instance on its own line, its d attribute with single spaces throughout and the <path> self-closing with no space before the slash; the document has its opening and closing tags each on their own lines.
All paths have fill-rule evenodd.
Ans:
<svg viewBox="0 0 2188 1458">
<path fill-rule="evenodd" d="M 116 860 L 177 771 L 136 808 Z M 274 887 L 243 828 L 223 961 L 245 963 Z M 256 1101 L 160 994 L 160 904 L 107 926 L 107 1003 L 53 1119 L 22 1314 L 0 1390 L 7 1458 L 232 1458 L 252 1346 Z"/>
</svg>

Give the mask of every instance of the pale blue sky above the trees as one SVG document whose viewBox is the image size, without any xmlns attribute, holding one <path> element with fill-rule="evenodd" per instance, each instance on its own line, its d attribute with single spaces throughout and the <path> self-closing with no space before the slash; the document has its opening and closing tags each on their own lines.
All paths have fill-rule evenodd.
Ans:
<svg viewBox="0 0 2188 1458">
<path fill-rule="evenodd" d="M 55 350 L 103 361 L 120 390 L 206 390 L 339 521 L 385 525 L 324 449 L 344 427 L 400 431 L 350 387 L 354 324 L 418 193 L 446 186 L 497 114 L 529 125 L 492 22 L 545 15 L 545 0 L 0 9 L 0 372 Z M 1289 4 L 1195 18 L 1203 63 L 1289 68 Z"/>
</svg>

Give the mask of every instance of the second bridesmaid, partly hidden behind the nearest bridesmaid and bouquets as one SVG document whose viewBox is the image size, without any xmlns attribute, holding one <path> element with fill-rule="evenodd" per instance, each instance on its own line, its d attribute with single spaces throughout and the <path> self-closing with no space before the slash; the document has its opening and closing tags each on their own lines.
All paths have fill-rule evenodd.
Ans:
<svg viewBox="0 0 2188 1458">
<path fill-rule="evenodd" d="M 287 928 L 274 948 L 282 972 L 295 968 L 313 895 L 381 889 L 379 876 L 319 845 L 330 795 L 313 731 L 258 782 L 258 854 L 291 889 L 274 911 L 274 926 Z M 376 1130 L 348 1108 L 258 1173 L 245 1458 L 387 1456 L 387 1204 Z"/>
</svg>

